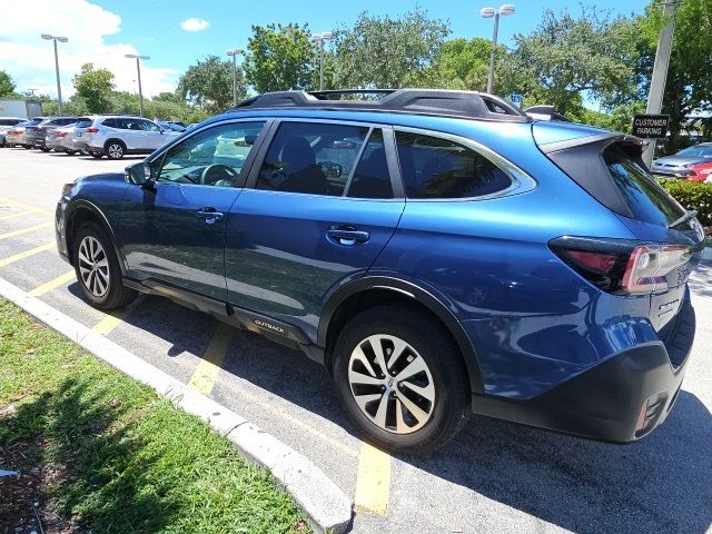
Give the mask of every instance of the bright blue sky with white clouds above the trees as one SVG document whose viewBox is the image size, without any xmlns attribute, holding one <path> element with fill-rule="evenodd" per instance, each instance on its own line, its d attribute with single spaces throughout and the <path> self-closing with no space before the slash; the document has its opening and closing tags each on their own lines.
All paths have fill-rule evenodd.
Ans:
<svg viewBox="0 0 712 534">
<path fill-rule="evenodd" d="M 513 16 L 501 19 L 500 42 L 512 44 L 516 33 L 534 29 L 545 7 L 580 11 L 578 1 L 512 0 Z M 586 0 L 613 14 L 641 13 L 647 0 Z M 251 24 L 308 23 L 314 32 L 349 27 L 362 11 L 397 17 L 419 6 L 428 16 L 449 22 L 451 37 L 492 38 L 492 19 L 479 9 L 496 7 L 487 0 L 358 0 L 344 1 L 230 1 L 230 0 L 0 0 L 0 70 L 17 90 L 57 96 L 52 42 L 41 33 L 68 37 L 58 43 L 62 97 L 73 92 L 71 79 L 82 63 L 93 62 L 115 75 L 117 89 L 138 89 L 135 60 L 141 63 L 145 96 L 172 91 L 186 69 L 208 55 L 225 57 L 228 48 L 245 48 Z"/>
</svg>

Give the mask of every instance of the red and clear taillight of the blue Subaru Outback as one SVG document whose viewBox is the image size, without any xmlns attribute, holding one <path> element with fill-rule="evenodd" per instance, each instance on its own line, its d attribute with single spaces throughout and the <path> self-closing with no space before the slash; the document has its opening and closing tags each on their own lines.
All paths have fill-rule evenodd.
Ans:
<svg viewBox="0 0 712 534">
<path fill-rule="evenodd" d="M 617 295 L 668 290 L 665 275 L 688 263 L 686 245 L 640 245 L 621 239 L 562 237 L 550 246 L 576 273 Z"/>
</svg>

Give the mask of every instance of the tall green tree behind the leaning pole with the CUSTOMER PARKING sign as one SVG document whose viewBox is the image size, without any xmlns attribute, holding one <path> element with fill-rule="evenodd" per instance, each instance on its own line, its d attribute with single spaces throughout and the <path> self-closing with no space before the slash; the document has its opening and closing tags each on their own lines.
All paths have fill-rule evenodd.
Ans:
<svg viewBox="0 0 712 534">
<path fill-rule="evenodd" d="M 657 2 L 651 1 L 639 28 L 646 47 L 645 62 L 640 71 L 643 97 L 647 98 L 652 59 L 657 44 L 657 36 L 665 21 Z M 670 139 L 668 150 L 678 148 L 680 131 L 692 111 L 712 110 L 712 2 L 709 0 L 685 0 L 675 13 L 675 31 L 665 92 L 663 113 L 670 115 Z"/>
</svg>

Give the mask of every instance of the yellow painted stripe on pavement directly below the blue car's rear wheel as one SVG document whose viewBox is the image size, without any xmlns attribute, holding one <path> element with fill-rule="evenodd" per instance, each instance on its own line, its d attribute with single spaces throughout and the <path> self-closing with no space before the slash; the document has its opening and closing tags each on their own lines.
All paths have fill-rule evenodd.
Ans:
<svg viewBox="0 0 712 534">
<path fill-rule="evenodd" d="M 358 455 L 356 475 L 356 512 L 386 515 L 390 496 L 390 455 L 367 443 Z"/>
</svg>

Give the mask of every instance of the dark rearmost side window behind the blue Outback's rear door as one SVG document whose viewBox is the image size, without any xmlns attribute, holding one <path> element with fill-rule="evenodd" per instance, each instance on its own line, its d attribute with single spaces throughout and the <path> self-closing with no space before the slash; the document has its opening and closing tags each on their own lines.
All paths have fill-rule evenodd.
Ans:
<svg viewBox="0 0 712 534">
<path fill-rule="evenodd" d="M 396 131 L 400 172 L 408 198 L 469 198 L 512 186 L 487 158 L 438 137 Z"/>
</svg>

